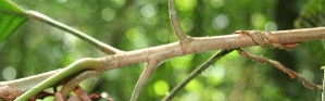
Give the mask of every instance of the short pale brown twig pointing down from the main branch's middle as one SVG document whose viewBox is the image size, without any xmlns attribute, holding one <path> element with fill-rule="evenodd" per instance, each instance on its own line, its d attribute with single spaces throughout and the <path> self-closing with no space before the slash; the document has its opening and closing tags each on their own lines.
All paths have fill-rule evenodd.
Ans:
<svg viewBox="0 0 325 101">
<path fill-rule="evenodd" d="M 138 100 L 145 85 L 148 83 L 148 79 L 151 77 L 152 73 L 155 71 L 155 68 L 160 64 L 159 61 L 150 60 L 150 59 L 148 59 L 148 60 L 149 60 L 148 65 L 145 68 L 145 71 L 142 72 L 142 74 L 140 75 L 129 101 Z"/>
</svg>

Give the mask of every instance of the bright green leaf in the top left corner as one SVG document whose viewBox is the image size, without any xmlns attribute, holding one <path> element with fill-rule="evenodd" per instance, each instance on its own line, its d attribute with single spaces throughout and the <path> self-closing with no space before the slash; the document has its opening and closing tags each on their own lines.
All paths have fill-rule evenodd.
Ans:
<svg viewBox="0 0 325 101">
<path fill-rule="evenodd" d="M 0 0 L 0 43 L 27 20 L 25 12 L 8 0 Z"/>
</svg>

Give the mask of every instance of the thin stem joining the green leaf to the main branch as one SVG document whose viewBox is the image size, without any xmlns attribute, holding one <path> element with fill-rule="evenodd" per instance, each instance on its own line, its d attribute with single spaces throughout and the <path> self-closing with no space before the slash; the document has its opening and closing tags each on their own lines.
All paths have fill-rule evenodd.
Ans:
<svg viewBox="0 0 325 101">
<path fill-rule="evenodd" d="M 107 43 L 103 43 L 103 42 L 101 42 L 101 41 L 99 41 L 99 40 L 97 40 L 97 39 L 88 36 L 87 34 L 85 34 L 85 33 L 83 33 L 80 30 L 72 28 L 72 27 L 70 27 L 70 26 L 67 26 L 67 25 L 65 25 L 65 24 L 63 24 L 61 22 L 58 22 L 58 21 L 55 21 L 55 20 L 53 20 L 53 18 L 51 18 L 51 17 L 49 17 L 49 16 L 47 16 L 45 14 L 39 13 L 39 12 L 36 12 L 36 11 L 26 11 L 26 14 L 30 18 L 34 18 L 34 20 L 37 20 L 37 21 L 40 21 L 40 22 L 45 22 L 45 23 L 47 23 L 47 24 L 49 24 L 51 26 L 54 26 L 54 27 L 60 28 L 62 30 L 65 30 L 65 31 L 67 31 L 70 34 L 72 34 L 72 35 L 74 35 L 74 36 L 76 36 L 76 37 L 78 37 L 78 38 L 80 38 L 80 39 L 83 39 L 83 40 L 85 40 L 85 41 L 93 45 L 95 47 L 97 47 L 98 49 L 100 49 L 101 51 L 103 51 L 103 52 L 105 52 L 108 54 L 115 54 L 115 53 L 123 52 L 123 51 L 121 51 L 121 50 L 118 50 L 116 48 L 113 48 L 113 47 L 111 47 L 111 46 L 109 46 Z"/>
</svg>

